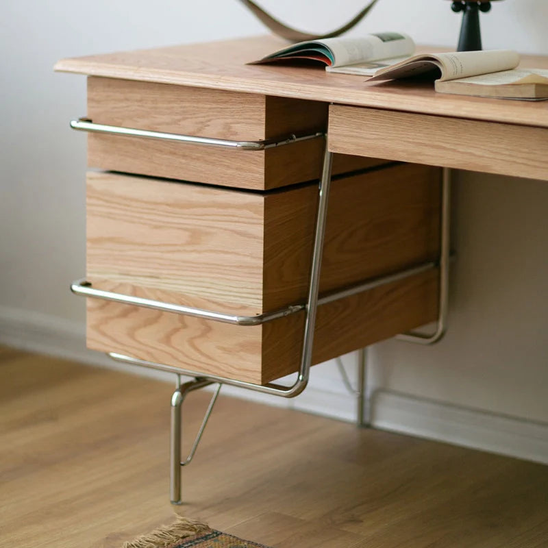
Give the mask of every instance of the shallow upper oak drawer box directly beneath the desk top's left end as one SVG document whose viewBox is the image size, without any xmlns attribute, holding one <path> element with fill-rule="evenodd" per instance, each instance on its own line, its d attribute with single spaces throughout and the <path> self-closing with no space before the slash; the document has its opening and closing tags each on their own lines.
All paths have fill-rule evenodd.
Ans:
<svg viewBox="0 0 548 548">
<path fill-rule="evenodd" d="M 88 118 L 94 124 L 236 141 L 279 141 L 324 132 L 327 103 L 250 93 L 89 77 Z M 95 133 L 88 165 L 154 177 L 268 190 L 320 176 L 324 140 L 317 137 L 264 150 Z M 338 155 L 334 173 L 386 160 Z"/>
</svg>

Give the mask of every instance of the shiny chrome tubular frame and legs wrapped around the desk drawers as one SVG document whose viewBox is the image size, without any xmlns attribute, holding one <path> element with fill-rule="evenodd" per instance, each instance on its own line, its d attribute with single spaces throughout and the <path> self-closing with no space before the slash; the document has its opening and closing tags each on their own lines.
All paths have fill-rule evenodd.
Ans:
<svg viewBox="0 0 548 548">
<path fill-rule="evenodd" d="M 304 311 L 306 314 L 305 329 L 303 336 L 303 347 L 301 351 L 301 363 L 299 371 L 297 373 L 297 379 L 291 386 L 282 386 L 279 384 L 266 384 L 259 385 L 249 382 L 243 382 L 235 379 L 229 379 L 221 377 L 219 375 L 203 375 L 197 371 L 190 371 L 186 369 L 179 369 L 175 366 L 166 364 L 159 364 L 155 362 L 149 362 L 147 360 L 140 360 L 138 358 L 132 358 L 130 356 L 124 356 L 119 353 L 109 353 L 109 356 L 114 360 L 125 362 L 134 365 L 147 366 L 153 369 L 160 369 L 162 371 L 169 371 L 177 375 L 177 388 L 171 398 L 171 473 L 170 473 L 170 497 L 171 502 L 174 504 L 181 503 L 181 467 L 186 464 L 190 464 L 193 456 L 197 450 L 201 436 L 208 419 L 212 412 L 214 403 L 219 395 L 219 390 L 223 384 L 231 386 L 237 386 L 239 388 L 246 388 L 248 390 L 254 390 L 256 392 L 270 394 L 281 397 L 295 397 L 299 395 L 306 385 L 308 384 L 308 378 L 310 374 L 310 365 L 312 363 L 312 346 L 314 341 L 314 327 L 316 322 L 316 312 L 318 306 L 356 295 L 360 292 L 370 290 L 372 288 L 382 286 L 395 282 L 399 279 L 404 279 L 412 275 L 419 274 L 429 269 L 435 269 L 438 264 L 436 262 L 425 262 L 418 266 L 414 266 L 410 269 L 371 279 L 366 282 L 362 282 L 355 286 L 345 288 L 337 292 L 332 292 L 329 295 L 319 297 L 319 276 L 321 269 L 321 259 L 323 253 L 323 241 L 325 236 L 325 219 L 327 216 L 327 203 L 329 198 L 329 187 L 331 184 L 331 172 L 332 172 L 332 160 L 333 153 L 329 151 L 327 147 L 327 136 L 323 133 L 316 133 L 306 136 L 292 135 L 285 140 L 261 140 L 261 141 L 236 141 L 236 140 L 223 140 L 212 139 L 204 137 L 196 137 L 182 134 L 171 134 L 164 132 L 151 132 L 142 129 L 134 129 L 128 127 L 119 127 L 112 125 L 102 125 L 93 123 L 89 119 L 79 119 L 77 121 L 71 121 L 71 127 L 80 131 L 95 132 L 103 134 L 114 134 L 121 136 L 132 136 L 141 138 L 151 138 L 160 140 L 171 140 L 178 142 L 187 142 L 194 145 L 206 145 L 213 147 L 225 147 L 232 149 L 240 149 L 247 151 L 260 151 L 273 147 L 279 147 L 288 145 L 292 142 L 298 142 L 301 140 L 308 140 L 313 138 L 323 137 L 325 139 L 325 152 L 323 158 L 322 175 L 319 182 L 319 201 L 318 210 L 316 213 L 316 226 L 314 231 L 314 247 L 312 252 L 312 264 L 310 268 L 310 281 L 308 286 L 308 296 L 306 303 L 299 303 L 294 306 L 289 306 L 282 310 L 275 310 L 273 312 L 264 312 L 263 314 L 257 314 L 256 316 L 238 316 L 236 314 L 227 314 L 225 312 L 215 312 L 212 310 L 203 310 L 200 308 L 192 308 L 188 306 L 178 305 L 176 303 L 164 303 L 162 301 L 156 301 L 153 299 L 145 299 L 141 297 L 134 297 L 132 295 L 123 295 L 121 293 L 105 291 L 97 288 L 93 288 L 89 282 L 85 279 L 79 279 L 73 282 L 71 290 L 77 295 L 84 297 L 94 297 L 97 299 L 105 299 L 108 301 L 115 301 L 119 303 L 131 304 L 134 306 L 140 306 L 144 308 L 152 308 L 154 310 L 162 310 L 164 312 L 173 312 L 175 314 L 184 314 L 186 316 L 193 316 L 197 318 L 208 319 L 212 321 L 220 321 L 224 323 L 232 323 L 235 325 L 249 326 L 260 325 L 262 323 L 273 321 L 289 314 L 295 314 L 296 312 Z M 444 170 L 443 175 L 443 207 L 442 207 L 442 229 L 441 229 L 441 242 L 440 242 L 440 296 L 439 296 L 439 317 L 438 327 L 436 332 L 432 336 L 422 334 L 405 334 L 399 336 L 403 340 L 409 340 L 415 343 L 432 344 L 439 340 L 444 332 L 447 316 L 447 284 L 449 280 L 449 192 L 450 192 L 450 173 L 449 170 Z M 359 425 L 369 425 L 371 422 L 371 398 L 369 394 L 369 388 L 367 386 L 367 362 L 366 362 L 366 349 L 359 351 L 358 355 L 358 389 L 354 390 L 348 380 L 348 377 L 341 369 L 341 373 L 344 373 L 343 379 L 345 384 L 348 385 L 349 390 L 356 395 L 357 399 L 357 416 Z M 182 384 L 181 375 L 190 375 L 195 377 Z M 187 458 L 181 460 L 181 440 L 182 440 L 182 403 L 186 398 L 186 395 L 193 390 L 205 388 L 210 384 L 219 384 L 216 389 L 208 410 L 203 418 L 201 427 L 195 438 L 195 442 L 188 453 Z"/>
</svg>

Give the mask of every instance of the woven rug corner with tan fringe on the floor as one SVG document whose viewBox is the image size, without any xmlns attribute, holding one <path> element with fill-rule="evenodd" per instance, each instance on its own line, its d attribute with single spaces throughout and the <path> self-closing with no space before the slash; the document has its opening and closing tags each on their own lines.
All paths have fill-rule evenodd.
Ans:
<svg viewBox="0 0 548 548">
<path fill-rule="evenodd" d="M 208 525 L 180 518 L 171 525 L 124 543 L 123 548 L 268 548 L 210 529 Z"/>
</svg>

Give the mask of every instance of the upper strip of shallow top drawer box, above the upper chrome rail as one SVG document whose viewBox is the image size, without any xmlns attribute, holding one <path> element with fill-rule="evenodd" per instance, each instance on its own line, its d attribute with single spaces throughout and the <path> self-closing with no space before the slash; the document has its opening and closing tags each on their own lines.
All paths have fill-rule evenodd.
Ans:
<svg viewBox="0 0 548 548">
<path fill-rule="evenodd" d="M 321 132 L 327 104 L 226 90 L 88 78 L 96 123 L 229 140 Z"/>
</svg>

